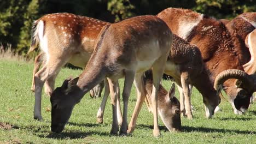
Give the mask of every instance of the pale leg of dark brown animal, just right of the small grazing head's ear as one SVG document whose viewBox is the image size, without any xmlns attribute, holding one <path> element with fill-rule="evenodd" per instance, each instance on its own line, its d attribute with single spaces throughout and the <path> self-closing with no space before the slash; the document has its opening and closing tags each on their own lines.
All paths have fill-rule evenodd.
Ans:
<svg viewBox="0 0 256 144">
<path fill-rule="evenodd" d="M 181 83 L 185 100 L 185 115 L 187 115 L 188 119 L 193 119 L 193 115 L 191 112 L 191 100 L 190 100 L 190 92 L 189 92 L 189 74 L 188 72 L 181 73 Z"/>
</svg>

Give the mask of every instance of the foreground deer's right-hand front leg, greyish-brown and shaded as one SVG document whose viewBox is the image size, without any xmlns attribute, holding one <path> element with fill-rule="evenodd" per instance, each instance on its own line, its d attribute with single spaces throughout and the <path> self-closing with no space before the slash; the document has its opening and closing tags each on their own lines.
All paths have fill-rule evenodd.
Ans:
<svg viewBox="0 0 256 144">
<path fill-rule="evenodd" d="M 135 78 L 135 71 L 125 71 L 125 81 L 124 81 L 124 90 L 123 90 L 123 101 L 124 101 L 124 117 L 123 123 L 121 124 L 121 129 L 119 135 L 127 135 L 128 122 L 127 122 L 127 109 L 128 109 L 128 100 L 131 93 L 132 82 Z"/>
</svg>

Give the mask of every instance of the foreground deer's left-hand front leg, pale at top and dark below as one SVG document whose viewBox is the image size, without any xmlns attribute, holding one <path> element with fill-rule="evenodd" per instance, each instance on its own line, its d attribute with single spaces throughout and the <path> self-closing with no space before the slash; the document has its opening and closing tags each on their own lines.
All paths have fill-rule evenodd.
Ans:
<svg viewBox="0 0 256 144">
<path fill-rule="evenodd" d="M 110 131 L 111 135 L 117 135 L 119 130 L 118 120 L 117 120 L 117 82 L 112 81 L 111 79 L 107 78 L 109 84 L 109 92 L 110 92 L 110 99 L 112 104 L 112 129 Z"/>
</svg>

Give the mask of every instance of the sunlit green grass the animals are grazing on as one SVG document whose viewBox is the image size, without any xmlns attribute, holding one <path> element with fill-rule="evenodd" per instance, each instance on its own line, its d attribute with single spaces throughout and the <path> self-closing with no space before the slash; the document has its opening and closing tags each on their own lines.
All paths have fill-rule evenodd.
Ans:
<svg viewBox="0 0 256 144">
<path fill-rule="evenodd" d="M 256 143 L 256 104 L 246 115 L 237 116 L 231 105 L 222 100 L 223 111 L 214 118 L 206 119 L 202 97 L 193 89 L 192 103 L 194 119 L 182 118 L 183 132 L 171 133 L 159 121 L 162 136 L 153 137 L 153 115 L 143 105 L 137 121 L 137 127 L 131 136 L 110 136 L 112 108 L 107 102 L 104 123 L 96 123 L 96 113 L 101 98 L 91 99 L 86 94 L 74 107 L 69 123 L 61 134 L 50 131 L 49 97 L 42 96 L 43 122 L 33 119 L 34 96 L 30 91 L 33 64 L 0 59 L 0 143 Z M 62 69 L 57 77 L 56 86 L 60 86 L 69 75 L 78 76 L 81 70 Z M 123 86 L 123 80 L 120 81 Z M 164 81 L 165 88 L 171 82 Z M 122 89 L 122 88 L 121 88 Z M 178 94 L 176 93 L 177 97 Z M 135 106 L 136 92 L 133 87 L 129 99 L 131 118 Z M 12 125 L 4 127 L 3 123 Z"/>
</svg>

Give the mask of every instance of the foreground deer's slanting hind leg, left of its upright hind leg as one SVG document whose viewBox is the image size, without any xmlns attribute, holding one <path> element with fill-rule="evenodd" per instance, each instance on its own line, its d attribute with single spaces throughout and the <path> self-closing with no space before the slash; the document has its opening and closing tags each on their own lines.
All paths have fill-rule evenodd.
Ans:
<svg viewBox="0 0 256 144">
<path fill-rule="evenodd" d="M 142 74 L 143 73 L 136 74 L 135 81 L 133 82 L 137 91 L 137 101 L 136 101 L 135 109 L 133 110 L 133 113 L 132 113 L 132 118 L 129 123 L 129 128 L 127 130 L 127 133 L 132 133 L 133 130 L 135 130 L 135 125 L 137 122 L 139 111 L 141 111 L 143 100 L 146 99 L 145 97 L 146 88 L 144 87 L 145 85 L 142 79 Z"/>
</svg>

